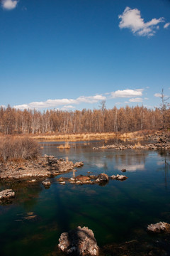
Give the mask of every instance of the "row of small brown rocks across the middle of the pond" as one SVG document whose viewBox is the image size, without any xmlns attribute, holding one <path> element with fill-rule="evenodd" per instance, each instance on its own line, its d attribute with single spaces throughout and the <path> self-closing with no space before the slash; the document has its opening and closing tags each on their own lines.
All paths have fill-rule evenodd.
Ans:
<svg viewBox="0 0 170 256">
<path fill-rule="evenodd" d="M 66 177 L 60 177 L 57 178 L 57 181 L 59 183 L 65 184 L 66 182 L 73 183 L 73 184 L 78 184 L 78 185 L 83 185 L 83 184 L 106 184 L 108 183 L 109 179 L 116 179 L 118 181 L 125 181 L 128 177 L 123 176 L 123 175 L 113 175 L 109 177 L 107 174 L 99 174 L 98 176 L 95 175 L 79 175 L 73 178 L 66 178 Z"/>
</svg>

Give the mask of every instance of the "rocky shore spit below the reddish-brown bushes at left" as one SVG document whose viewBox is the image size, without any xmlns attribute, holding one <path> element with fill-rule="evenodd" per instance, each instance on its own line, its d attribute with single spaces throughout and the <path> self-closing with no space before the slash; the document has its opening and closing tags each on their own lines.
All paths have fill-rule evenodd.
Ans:
<svg viewBox="0 0 170 256">
<path fill-rule="evenodd" d="M 83 166 L 83 162 L 73 164 L 72 161 L 57 159 L 55 156 L 40 156 L 38 159 L 23 161 L 7 161 L 0 163 L 0 178 L 30 178 L 57 176 L 75 167 Z"/>
</svg>

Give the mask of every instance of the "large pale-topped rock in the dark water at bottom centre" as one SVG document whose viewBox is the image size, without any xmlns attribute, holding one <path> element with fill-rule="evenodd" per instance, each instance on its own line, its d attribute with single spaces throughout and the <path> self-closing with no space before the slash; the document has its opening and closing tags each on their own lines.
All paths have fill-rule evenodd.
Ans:
<svg viewBox="0 0 170 256">
<path fill-rule="evenodd" d="M 58 247 L 63 252 L 76 255 L 98 255 L 98 245 L 94 233 L 89 228 L 80 226 L 67 233 L 62 233 Z"/>
</svg>

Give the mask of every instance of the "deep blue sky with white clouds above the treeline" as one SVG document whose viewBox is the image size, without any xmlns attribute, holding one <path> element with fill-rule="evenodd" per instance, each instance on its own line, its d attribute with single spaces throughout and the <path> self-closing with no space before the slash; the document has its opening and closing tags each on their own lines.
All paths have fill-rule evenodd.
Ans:
<svg viewBox="0 0 170 256">
<path fill-rule="evenodd" d="M 82 110 L 170 96 L 170 0 L 0 0 L 0 105 Z"/>
</svg>

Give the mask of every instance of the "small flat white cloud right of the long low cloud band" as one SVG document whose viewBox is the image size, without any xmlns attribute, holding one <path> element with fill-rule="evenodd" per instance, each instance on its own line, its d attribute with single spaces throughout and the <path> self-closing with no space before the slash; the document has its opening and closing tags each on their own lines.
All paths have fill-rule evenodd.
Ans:
<svg viewBox="0 0 170 256">
<path fill-rule="evenodd" d="M 143 89 L 137 89 L 137 90 L 117 90 L 115 92 L 111 92 L 111 97 L 137 97 L 142 96 Z"/>
</svg>

